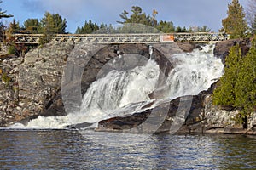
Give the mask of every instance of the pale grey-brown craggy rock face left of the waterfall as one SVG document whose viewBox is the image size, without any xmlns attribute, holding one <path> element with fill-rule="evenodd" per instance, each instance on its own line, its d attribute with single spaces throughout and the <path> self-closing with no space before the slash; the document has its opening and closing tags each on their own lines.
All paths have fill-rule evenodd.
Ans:
<svg viewBox="0 0 256 170">
<path fill-rule="evenodd" d="M 54 49 L 54 50 L 53 50 Z M 61 90 L 62 67 L 73 43 L 46 44 L 26 56 L 2 59 L 0 83 L 0 126 L 8 126 L 26 117 L 44 115 Z M 5 77 L 5 78 L 4 78 Z M 56 111 L 55 115 L 63 114 Z"/>
</svg>

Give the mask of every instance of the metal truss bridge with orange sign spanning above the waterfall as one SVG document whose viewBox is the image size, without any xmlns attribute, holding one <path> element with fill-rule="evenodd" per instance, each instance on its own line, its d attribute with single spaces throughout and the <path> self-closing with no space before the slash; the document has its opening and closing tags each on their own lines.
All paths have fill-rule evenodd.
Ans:
<svg viewBox="0 0 256 170">
<path fill-rule="evenodd" d="M 13 42 L 39 44 L 44 34 L 13 34 Z M 49 42 L 92 43 L 160 43 L 160 42 L 219 42 L 227 40 L 224 33 L 144 33 L 144 34 L 55 34 Z"/>
</svg>

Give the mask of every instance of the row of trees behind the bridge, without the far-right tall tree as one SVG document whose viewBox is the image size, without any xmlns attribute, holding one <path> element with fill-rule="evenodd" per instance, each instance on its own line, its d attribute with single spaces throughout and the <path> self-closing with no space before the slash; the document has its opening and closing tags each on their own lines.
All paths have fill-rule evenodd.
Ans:
<svg viewBox="0 0 256 170">
<path fill-rule="evenodd" d="M 4 11 L 5 14 L 6 11 Z M 144 26 L 151 26 L 155 29 L 169 33 L 169 32 L 193 32 L 193 31 L 201 31 L 208 32 L 211 31 L 207 26 L 190 26 L 186 28 L 185 26 L 174 26 L 172 21 L 165 20 L 156 20 L 156 15 L 158 12 L 153 10 L 152 15 L 145 14 L 143 9 L 138 6 L 131 7 L 131 14 L 124 10 L 122 14 L 119 14 L 121 20 L 117 21 L 119 24 L 127 24 L 127 23 L 137 23 L 142 24 Z M 12 17 L 12 15 L 10 15 Z M 10 17 L 9 16 L 9 17 Z M 2 22 L 3 25 L 3 22 Z M 4 27 L 4 26 L 3 26 Z M 62 18 L 60 14 L 50 14 L 49 12 L 45 12 L 44 17 L 40 20 L 38 19 L 27 19 L 23 25 L 20 25 L 20 22 L 17 20 L 12 20 L 9 23 L 4 31 L 7 34 L 13 33 L 32 33 L 32 34 L 65 34 L 69 33 L 66 31 L 67 28 L 67 20 Z M 90 34 L 95 31 L 117 31 L 111 24 L 107 25 L 105 23 L 101 23 L 98 25 L 92 20 L 85 20 L 82 26 L 78 26 L 75 33 L 76 34 Z"/>
</svg>

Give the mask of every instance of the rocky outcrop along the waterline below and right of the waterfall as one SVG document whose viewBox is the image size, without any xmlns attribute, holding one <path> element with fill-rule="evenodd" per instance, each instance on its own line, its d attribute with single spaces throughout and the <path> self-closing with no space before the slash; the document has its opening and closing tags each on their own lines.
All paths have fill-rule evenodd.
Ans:
<svg viewBox="0 0 256 170">
<path fill-rule="evenodd" d="M 131 116 L 103 120 L 99 122 L 96 130 L 122 133 L 256 134 L 256 111 L 249 117 L 247 121 L 248 127 L 245 128 L 244 124 L 236 121 L 239 111 L 226 111 L 220 106 L 212 104 L 214 86 L 215 84 L 207 91 L 195 96 L 184 96 L 172 101 L 166 101 L 166 103 L 156 106 L 154 109 Z M 163 117 L 164 111 L 167 111 L 167 114 L 164 115 L 165 117 Z M 152 112 L 154 112 L 154 116 L 150 117 Z M 151 119 L 149 125 L 148 117 Z"/>
</svg>

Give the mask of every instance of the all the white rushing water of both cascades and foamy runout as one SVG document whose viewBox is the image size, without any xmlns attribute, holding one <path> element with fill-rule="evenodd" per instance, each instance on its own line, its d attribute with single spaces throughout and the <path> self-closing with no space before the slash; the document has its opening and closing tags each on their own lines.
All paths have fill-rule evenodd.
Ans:
<svg viewBox="0 0 256 170">
<path fill-rule="evenodd" d="M 192 53 L 173 55 L 171 63 L 174 69 L 166 77 L 163 98 L 175 99 L 183 95 L 199 94 L 216 82 L 223 74 L 224 65 L 213 56 L 213 48 L 213 45 L 208 45 Z M 62 128 L 69 124 L 96 123 L 113 116 L 140 111 L 150 101 L 148 94 L 154 92 L 159 76 L 159 65 L 151 59 L 146 65 L 128 71 L 110 71 L 90 85 L 79 112 L 67 116 L 39 116 L 28 122 L 26 127 Z"/>
</svg>

